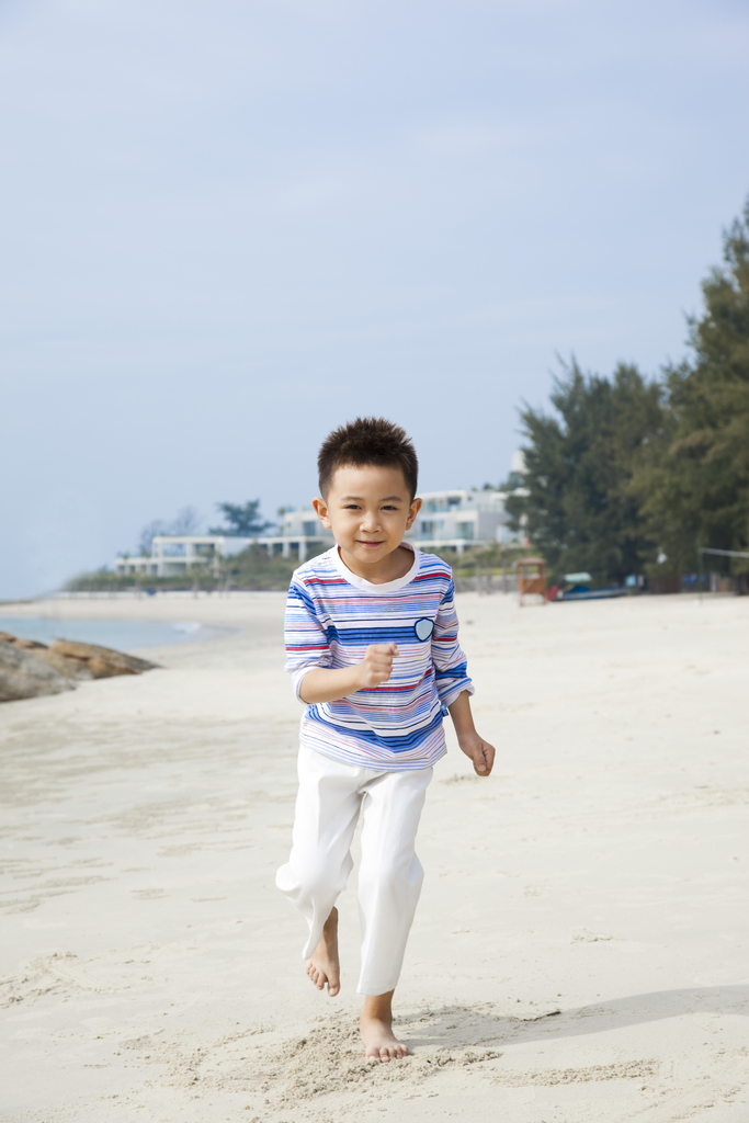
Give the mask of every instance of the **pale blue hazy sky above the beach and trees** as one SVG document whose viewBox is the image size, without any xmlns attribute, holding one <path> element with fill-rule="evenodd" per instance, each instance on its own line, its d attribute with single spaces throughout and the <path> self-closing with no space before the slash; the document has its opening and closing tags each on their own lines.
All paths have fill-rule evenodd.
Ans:
<svg viewBox="0 0 749 1123">
<path fill-rule="evenodd" d="M 748 57 L 745 0 L 0 0 L 0 599 L 357 414 L 496 484 L 558 357 L 681 359 Z"/>
</svg>

